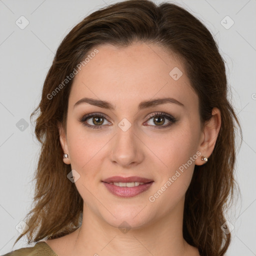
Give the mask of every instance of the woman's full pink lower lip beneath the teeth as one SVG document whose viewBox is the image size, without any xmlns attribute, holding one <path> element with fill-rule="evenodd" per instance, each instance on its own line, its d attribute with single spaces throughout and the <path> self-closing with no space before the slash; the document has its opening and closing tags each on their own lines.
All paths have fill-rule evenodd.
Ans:
<svg viewBox="0 0 256 256">
<path fill-rule="evenodd" d="M 119 196 L 119 197 L 132 197 L 137 194 L 142 193 L 143 191 L 146 191 L 153 183 L 153 181 L 141 184 L 138 186 L 132 186 L 132 187 L 127 187 L 127 186 L 116 186 L 114 184 L 109 184 L 106 182 L 103 182 L 106 188 L 108 189 L 109 192 L 112 194 Z"/>
</svg>

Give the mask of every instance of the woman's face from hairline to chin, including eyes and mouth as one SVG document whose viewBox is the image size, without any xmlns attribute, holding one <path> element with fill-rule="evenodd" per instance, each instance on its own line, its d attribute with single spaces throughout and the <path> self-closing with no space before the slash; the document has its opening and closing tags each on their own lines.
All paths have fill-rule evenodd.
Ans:
<svg viewBox="0 0 256 256">
<path fill-rule="evenodd" d="M 182 62 L 155 44 L 95 48 L 72 84 L 66 136 L 60 130 L 86 214 L 133 227 L 182 214 L 204 153 L 198 97 Z"/>
</svg>

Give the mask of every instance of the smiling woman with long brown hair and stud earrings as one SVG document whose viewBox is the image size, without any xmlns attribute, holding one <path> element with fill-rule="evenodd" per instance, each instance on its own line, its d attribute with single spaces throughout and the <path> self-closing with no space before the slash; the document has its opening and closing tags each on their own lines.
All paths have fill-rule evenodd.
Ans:
<svg viewBox="0 0 256 256">
<path fill-rule="evenodd" d="M 37 243 L 6 255 L 224 255 L 240 128 L 227 90 L 183 8 L 128 0 L 84 18 L 31 114 L 42 147 L 17 240 Z"/>
</svg>

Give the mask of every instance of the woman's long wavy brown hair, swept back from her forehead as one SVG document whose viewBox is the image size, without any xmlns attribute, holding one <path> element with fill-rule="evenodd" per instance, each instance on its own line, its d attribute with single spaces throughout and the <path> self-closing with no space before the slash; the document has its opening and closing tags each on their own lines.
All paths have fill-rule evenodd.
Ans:
<svg viewBox="0 0 256 256">
<path fill-rule="evenodd" d="M 41 151 L 34 179 L 34 206 L 26 215 L 28 243 L 68 234 L 80 225 L 83 200 L 75 184 L 67 178 L 70 165 L 62 161 L 58 123 L 66 128 L 67 102 L 73 79 L 49 94 L 73 72 L 84 56 L 98 45 L 110 43 L 126 47 L 133 42 L 156 43 L 180 56 L 186 74 L 199 98 L 201 123 L 211 118 L 211 110 L 221 112 L 221 127 L 214 150 L 206 164 L 195 165 L 185 194 L 183 237 L 198 248 L 200 255 L 223 255 L 230 233 L 220 226 L 224 210 L 235 188 L 235 122 L 229 103 L 225 65 L 207 28 L 188 11 L 172 3 L 158 6 L 149 0 L 126 0 L 94 11 L 75 25 L 60 43 L 45 78 L 35 134 Z M 63 84 L 63 83 L 62 83 Z M 14 244 L 15 244 L 14 243 Z"/>
</svg>

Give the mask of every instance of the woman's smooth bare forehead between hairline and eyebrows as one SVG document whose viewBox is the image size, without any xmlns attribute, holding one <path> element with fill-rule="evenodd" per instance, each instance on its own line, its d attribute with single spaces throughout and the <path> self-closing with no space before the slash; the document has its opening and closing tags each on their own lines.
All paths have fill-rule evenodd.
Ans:
<svg viewBox="0 0 256 256">
<path fill-rule="evenodd" d="M 98 52 L 90 55 L 95 49 Z M 72 84 L 71 105 L 82 97 L 91 97 L 128 107 L 166 96 L 184 105 L 197 104 L 182 61 L 159 45 L 134 43 L 118 48 L 106 44 L 95 46 L 87 55 Z"/>
</svg>

